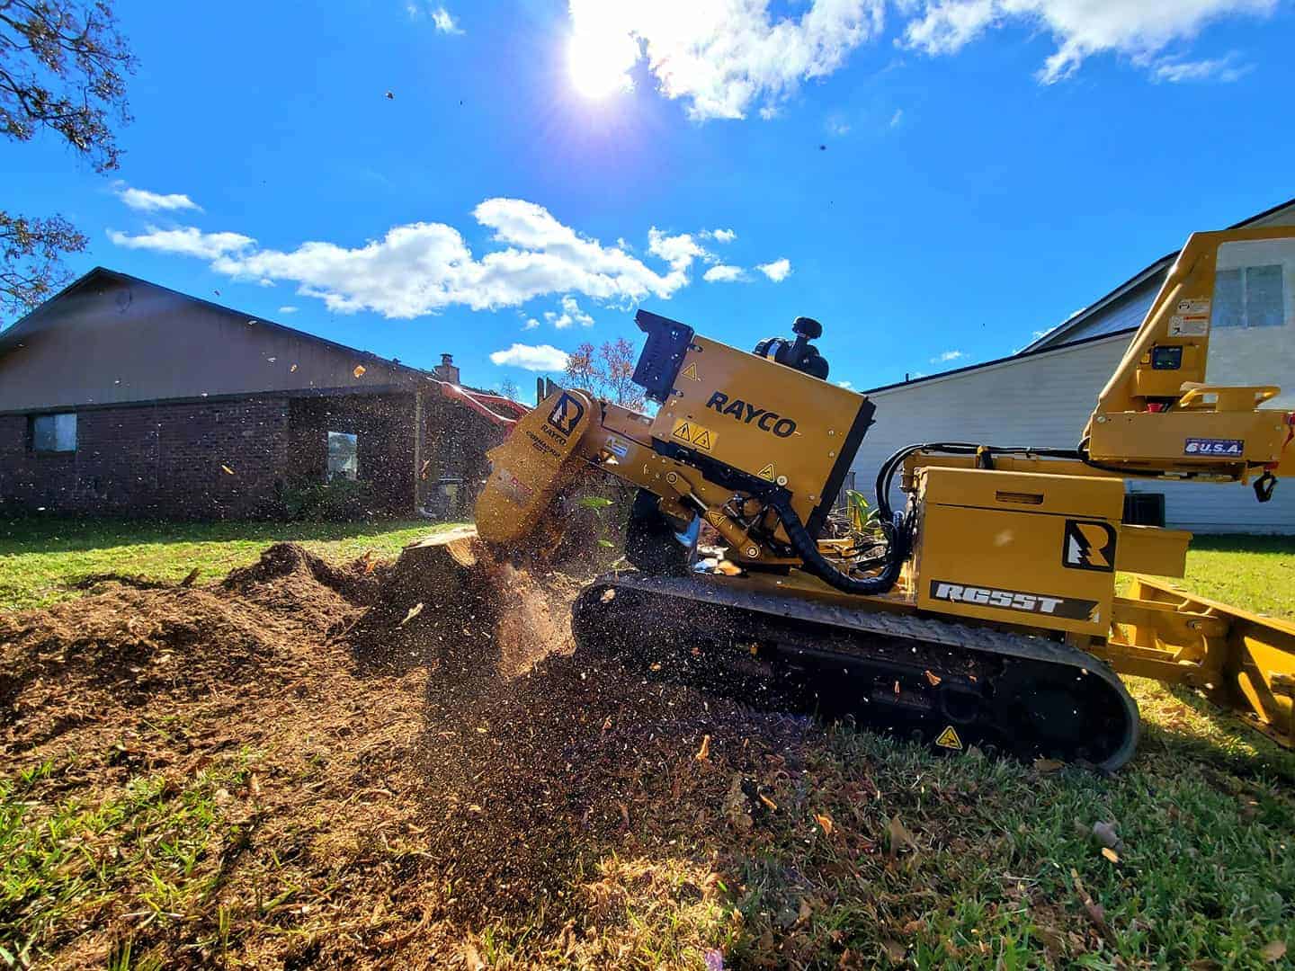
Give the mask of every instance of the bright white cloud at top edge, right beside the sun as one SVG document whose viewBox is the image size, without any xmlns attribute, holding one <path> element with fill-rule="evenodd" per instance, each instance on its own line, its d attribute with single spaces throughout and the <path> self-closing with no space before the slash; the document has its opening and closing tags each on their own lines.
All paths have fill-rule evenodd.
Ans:
<svg viewBox="0 0 1295 971">
<path fill-rule="evenodd" d="M 772 118 L 800 82 L 824 78 L 881 34 L 884 0 L 811 0 L 799 18 L 769 0 L 570 0 L 572 76 L 585 91 L 632 87 L 648 61 L 667 98 L 689 118 Z M 589 76 L 596 75 L 596 76 Z"/>
</svg>

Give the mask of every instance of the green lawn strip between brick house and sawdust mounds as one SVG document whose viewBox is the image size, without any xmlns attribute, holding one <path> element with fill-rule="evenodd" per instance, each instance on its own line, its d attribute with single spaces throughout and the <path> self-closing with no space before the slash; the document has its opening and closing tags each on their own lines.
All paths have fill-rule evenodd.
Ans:
<svg viewBox="0 0 1295 971">
<path fill-rule="evenodd" d="M 79 596 L 89 574 L 131 574 L 177 581 L 197 567 L 199 581 L 255 562 L 272 542 L 299 542 L 329 559 L 400 548 L 443 528 L 426 519 L 373 523 L 166 523 L 93 519 L 0 520 L 0 611 L 43 607 Z"/>
</svg>

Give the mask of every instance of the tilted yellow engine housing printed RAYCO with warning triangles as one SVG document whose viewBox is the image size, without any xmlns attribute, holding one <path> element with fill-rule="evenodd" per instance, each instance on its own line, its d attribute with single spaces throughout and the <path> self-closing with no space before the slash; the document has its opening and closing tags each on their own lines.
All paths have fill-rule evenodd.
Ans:
<svg viewBox="0 0 1295 971">
<path fill-rule="evenodd" d="M 689 461 L 711 458 L 785 487 L 813 532 L 872 414 L 862 395 L 694 337 L 651 435 Z"/>
</svg>

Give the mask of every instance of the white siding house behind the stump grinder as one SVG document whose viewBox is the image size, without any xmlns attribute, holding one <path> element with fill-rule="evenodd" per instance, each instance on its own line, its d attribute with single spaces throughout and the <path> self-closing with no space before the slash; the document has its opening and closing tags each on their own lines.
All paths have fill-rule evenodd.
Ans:
<svg viewBox="0 0 1295 971">
<path fill-rule="evenodd" d="M 1295 225 L 1295 199 L 1238 225 Z M 865 391 L 877 414 L 855 458 L 855 488 L 870 496 L 882 461 L 918 441 L 1074 448 L 1176 256 L 1156 260 L 1011 357 Z M 1265 278 L 1264 293 L 1281 308 L 1277 317 L 1261 326 L 1220 328 L 1216 321 L 1207 378 L 1281 385 L 1279 404 L 1295 409 L 1295 265 L 1274 277 Z M 1129 487 L 1163 493 L 1166 523 L 1172 527 L 1295 535 L 1295 482 L 1279 483 L 1265 504 L 1241 484 L 1131 482 Z"/>
</svg>

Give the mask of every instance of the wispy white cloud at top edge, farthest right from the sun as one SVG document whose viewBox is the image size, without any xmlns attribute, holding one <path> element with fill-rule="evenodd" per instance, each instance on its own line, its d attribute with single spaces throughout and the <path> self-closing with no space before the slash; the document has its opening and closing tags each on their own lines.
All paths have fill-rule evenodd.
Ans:
<svg viewBox="0 0 1295 971">
<path fill-rule="evenodd" d="M 1101 53 L 1125 54 L 1154 71 L 1158 54 L 1195 38 L 1210 21 L 1274 9 L 1277 0 L 923 0 L 904 28 L 904 43 L 944 54 L 1005 23 L 1042 27 L 1057 50 L 1037 76 L 1052 84 Z"/>
</svg>

